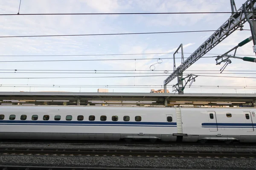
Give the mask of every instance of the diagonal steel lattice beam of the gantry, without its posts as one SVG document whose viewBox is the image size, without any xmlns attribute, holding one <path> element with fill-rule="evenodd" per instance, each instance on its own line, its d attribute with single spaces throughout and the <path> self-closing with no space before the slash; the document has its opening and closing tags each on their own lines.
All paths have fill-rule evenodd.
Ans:
<svg viewBox="0 0 256 170">
<path fill-rule="evenodd" d="M 253 11 L 252 5 L 255 5 L 256 0 L 247 0 L 245 3 L 245 8 L 247 9 L 248 17 L 252 17 Z M 249 13 L 248 13 L 249 12 Z M 190 65 L 200 59 L 204 54 L 214 48 L 218 43 L 227 38 L 230 34 L 232 34 L 236 29 L 238 29 L 242 24 L 246 22 L 245 13 L 243 7 L 239 8 L 236 13 L 231 15 L 231 17 L 220 27 L 217 31 L 215 31 L 194 53 L 192 53 L 188 59 L 185 60 L 177 69 L 164 80 L 164 85 L 167 85 L 171 82 L 177 74 L 182 73 Z"/>
</svg>

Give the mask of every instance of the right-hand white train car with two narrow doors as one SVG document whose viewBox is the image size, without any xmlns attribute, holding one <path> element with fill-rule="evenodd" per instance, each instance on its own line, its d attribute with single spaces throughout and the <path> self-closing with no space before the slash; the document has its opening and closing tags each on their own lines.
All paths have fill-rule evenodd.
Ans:
<svg viewBox="0 0 256 170">
<path fill-rule="evenodd" d="M 183 142 L 207 140 L 256 142 L 256 108 L 177 108 L 180 110 Z"/>
</svg>

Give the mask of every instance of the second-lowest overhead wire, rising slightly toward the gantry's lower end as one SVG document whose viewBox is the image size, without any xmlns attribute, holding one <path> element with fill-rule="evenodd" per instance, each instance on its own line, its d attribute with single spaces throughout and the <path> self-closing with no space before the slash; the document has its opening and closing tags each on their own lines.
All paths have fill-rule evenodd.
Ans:
<svg viewBox="0 0 256 170">
<path fill-rule="evenodd" d="M 82 78 L 125 78 L 125 77 L 162 77 L 166 75 L 146 75 L 146 76 L 106 76 L 106 77 L 0 77 L 0 79 L 82 79 Z M 185 75 L 184 75 L 185 76 Z M 186 75 L 187 76 L 187 75 Z M 256 79 L 256 77 L 235 77 L 235 76 L 205 76 L 199 77 L 226 77 L 226 78 L 247 78 Z"/>
</svg>

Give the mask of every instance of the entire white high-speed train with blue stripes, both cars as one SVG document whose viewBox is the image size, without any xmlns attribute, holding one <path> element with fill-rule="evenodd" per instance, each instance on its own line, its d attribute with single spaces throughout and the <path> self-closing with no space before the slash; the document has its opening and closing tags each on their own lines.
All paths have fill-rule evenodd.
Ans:
<svg viewBox="0 0 256 170">
<path fill-rule="evenodd" d="M 255 112 L 256 108 L 0 105 L 0 139 L 256 142 Z"/>
</svg>

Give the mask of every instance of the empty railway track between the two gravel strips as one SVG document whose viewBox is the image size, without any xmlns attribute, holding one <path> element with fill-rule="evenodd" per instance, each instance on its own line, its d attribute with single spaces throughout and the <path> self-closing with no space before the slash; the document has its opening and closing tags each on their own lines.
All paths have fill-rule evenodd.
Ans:
<svg viewBox="0 0 256 170">
<path fill-rule="evenodd" d="M 184 151 L 141 149 L 65 149 L 0 147 L 2 154 L 63 155 L 63 156 L 183 156 L 183 157 L 243 157 L 256 158 L 256 151 Z"/>
</svg>

